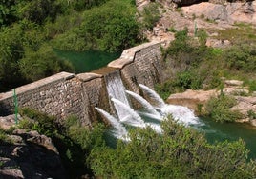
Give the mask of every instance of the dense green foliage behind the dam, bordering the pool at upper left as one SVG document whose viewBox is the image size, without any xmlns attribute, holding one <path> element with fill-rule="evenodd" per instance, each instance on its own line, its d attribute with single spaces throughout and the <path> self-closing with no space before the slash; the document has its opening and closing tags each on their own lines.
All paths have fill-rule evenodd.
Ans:
<svg viewBox="0 0 256 179">
<path fill-rule="evenodd" d="M 74 72 L 55 49 L 120 51 L 141 42 L 139 28 L 132 0 L 1 1 L 0 92 Z"/>
</svg>

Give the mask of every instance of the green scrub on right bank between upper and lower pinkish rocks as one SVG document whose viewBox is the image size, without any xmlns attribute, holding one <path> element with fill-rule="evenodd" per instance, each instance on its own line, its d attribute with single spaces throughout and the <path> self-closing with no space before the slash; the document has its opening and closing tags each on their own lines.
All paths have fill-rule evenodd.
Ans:
<svg viewBox="0 0 256 179">
<path fill-rule="evenodd" d="M 255 41 L 216 49 L 205 46 L 203 30 L 197 38 L 189 37 L 187 30 L 176 32 L 175 37 L 163 50 L 166 80 L 156 87 L 162 98 L 185 89 L 221 88 L 222 77 L 243 80 L 250 91 L 255 90 Z"/>
</svg>

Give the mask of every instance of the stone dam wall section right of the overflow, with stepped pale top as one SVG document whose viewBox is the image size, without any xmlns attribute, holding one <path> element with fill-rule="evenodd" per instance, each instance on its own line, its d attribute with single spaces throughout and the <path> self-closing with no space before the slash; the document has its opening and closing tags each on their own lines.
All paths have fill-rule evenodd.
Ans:
<svg viewBox="0 0 256 179">
<path fill-rule="evenodd" d="M 138 84 L 154 89 L 154 85 L 162 80 L 162 44 L 163 42 L 150 42 L 124 50 L 121 57 L 108 66 L 120 69 L 126 89 L 139 93 Z"/>
</svg>

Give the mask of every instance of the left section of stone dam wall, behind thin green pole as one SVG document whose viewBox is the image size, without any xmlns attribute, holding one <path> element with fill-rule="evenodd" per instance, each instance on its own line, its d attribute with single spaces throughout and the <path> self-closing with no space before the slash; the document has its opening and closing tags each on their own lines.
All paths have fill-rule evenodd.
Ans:
<svg viewBox="0 0 256 179">
<path fill-rule="evenodd" d="M 16 89 L 18 107 L 29 107 L 56 116 L 58 119 L 68 114 L 81 117 L 81 82 L 75 75 L 60 72 Z M 13 112 L 13 92 L 0 94 L 0 115 Z"/>
</svg>

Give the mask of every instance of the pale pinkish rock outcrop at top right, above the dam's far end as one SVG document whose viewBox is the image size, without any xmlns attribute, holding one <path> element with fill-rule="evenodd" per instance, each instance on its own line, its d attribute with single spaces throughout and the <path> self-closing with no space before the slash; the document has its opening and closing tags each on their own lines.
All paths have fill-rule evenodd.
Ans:
<svg viewBox="0 0 256 179">
<path fill-rule="evenodd" d="M 179 1 L 178 2 L 185 2 Z M 145 5 L 150 3 L 147 2 Z M 205 30 L 208 34 L 207 46 L 225 48 L 232 45 L 231 39 L 219 38 L 218 30 L 238 28 L 235 24 L 245 23 L 256 25 L 256 1 L 224 1 L 211 0 L 208 2 L 188 1 L 191 6 L 177 5 L 173 0 L 159 0 L 161 17 L 157 26 L 152 31 L 147 31 L 145 36 L 151 41 L 154 39 L 173 40 L 169 30 L 184 30 L 194 36 L 197 30 Z M 140 6 L 142 10 L 144 6 Z M 168 37 L 168 38 L 167 38 Z"/>
</svg>

